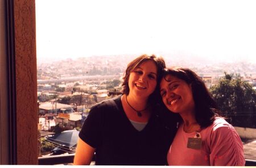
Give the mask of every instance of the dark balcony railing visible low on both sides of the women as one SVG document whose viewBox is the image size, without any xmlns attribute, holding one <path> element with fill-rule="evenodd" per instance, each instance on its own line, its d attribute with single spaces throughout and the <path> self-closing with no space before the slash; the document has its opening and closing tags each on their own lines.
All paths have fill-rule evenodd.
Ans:
<svg viewBox="0 0 256 168">
<path fill-rule="evenodd" d="M 44 156 L 38 158 L 39 165 L 60 165 L 73 163 L 75 154 Z M 256 166 L 255 160 L 245 160 L 245 166 Z"/>
</svg>

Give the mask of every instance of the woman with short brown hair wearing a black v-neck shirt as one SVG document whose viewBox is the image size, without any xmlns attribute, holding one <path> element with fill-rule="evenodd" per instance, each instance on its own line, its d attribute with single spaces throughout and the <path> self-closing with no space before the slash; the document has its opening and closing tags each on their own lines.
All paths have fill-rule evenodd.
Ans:
<svg viewBox="0 0 256 168">
<path fill-rule="evenodd" d="M 163 58 L 141 55 L 123 77 L 122 95 L 95 105 L 77 143 L 75 165 L 166 165 L 176 132 L 171 113 L 159 106 L 157 85 Z"/>
</svg>

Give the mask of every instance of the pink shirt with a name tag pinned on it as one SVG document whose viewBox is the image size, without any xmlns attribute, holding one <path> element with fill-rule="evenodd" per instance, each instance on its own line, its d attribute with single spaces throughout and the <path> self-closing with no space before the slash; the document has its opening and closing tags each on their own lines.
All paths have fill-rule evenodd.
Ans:
<svg viewBox="0 0 256 168">
<path fill-rule="evenodd" d="M 244 166 L 240 136 L 225 119 L 216 118 L 212 125 L 200 131 L 201 149 L 187 148 L 188 137 L 196 132 L 183 131 L 181 123 L 167 154 L 170 166 Z"/>
</svg>

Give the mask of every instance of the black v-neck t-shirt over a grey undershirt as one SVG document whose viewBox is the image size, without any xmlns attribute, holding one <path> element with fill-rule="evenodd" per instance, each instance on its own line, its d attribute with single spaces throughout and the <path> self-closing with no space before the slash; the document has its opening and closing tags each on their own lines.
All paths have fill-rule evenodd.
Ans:
<svg viewBox="0 0 256 168">
<path fill-rule="evenodd" d="M 92 107 L 79 137 L 96 148 L 96 165 L 166 165 L 175 133 L 173 115 L 160 106 L 146 127 L 136 130 L 118 96 Z"/>
</svg>

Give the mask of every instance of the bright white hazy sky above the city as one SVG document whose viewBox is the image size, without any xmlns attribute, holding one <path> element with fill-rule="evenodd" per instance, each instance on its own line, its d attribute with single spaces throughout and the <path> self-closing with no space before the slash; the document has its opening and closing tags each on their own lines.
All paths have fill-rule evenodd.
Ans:
<svg viewBox="0 0 256 168">
<path fill-rule="evenodd" d="M 36 0 L 38 61 L 166 53 L 256 63 L 255 8 L 246 0 Z"/>
</svg>

